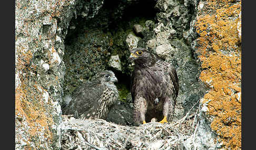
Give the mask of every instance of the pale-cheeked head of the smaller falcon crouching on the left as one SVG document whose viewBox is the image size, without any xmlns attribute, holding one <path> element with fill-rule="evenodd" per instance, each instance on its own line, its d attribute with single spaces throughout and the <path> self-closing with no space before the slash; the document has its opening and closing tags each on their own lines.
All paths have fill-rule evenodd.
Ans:
<svg viewBox="0 0 256 150">
<path fill-rule="evenodd" d="M 110 70 L 98 72 L 93 78 L 92 81 L 99 81 L 101 83 L 107 83 L 114 85 L 117 82 L 114 72 Z"/>
</svg>

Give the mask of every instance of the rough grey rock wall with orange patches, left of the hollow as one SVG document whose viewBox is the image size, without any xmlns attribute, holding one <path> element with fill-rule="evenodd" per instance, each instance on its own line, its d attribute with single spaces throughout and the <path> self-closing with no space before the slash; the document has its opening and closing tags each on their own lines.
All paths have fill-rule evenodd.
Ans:
<svg viewBox="0 0 256 150">
<path fill-rule="evenodd" d="M 63 41 L 76 10 L 103 1 L 15 2 L 15 148 L 61 149 Z"/>
</svg>

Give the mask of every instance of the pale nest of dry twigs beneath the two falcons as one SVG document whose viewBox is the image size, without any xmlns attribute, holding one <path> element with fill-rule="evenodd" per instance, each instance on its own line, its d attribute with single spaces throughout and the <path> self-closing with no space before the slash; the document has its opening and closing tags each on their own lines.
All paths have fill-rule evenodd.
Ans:
<svg viewBox="0 0 256 150">
<path fill-rule="evenodd" d="M 177 122 L 140 126 L 63 115 L 62 149 L 190 149 L 184 142 L 193 137 L 196 113 L 188 114 Z"/>
</svg>

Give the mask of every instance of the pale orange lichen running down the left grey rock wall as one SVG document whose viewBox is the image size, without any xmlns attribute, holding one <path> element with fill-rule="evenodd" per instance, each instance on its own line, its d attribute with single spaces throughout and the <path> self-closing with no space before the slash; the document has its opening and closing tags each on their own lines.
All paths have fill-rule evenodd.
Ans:
<svg viewBox="0 0 256 150">
<path fill-rule="evenodd" d="M 21 122 L 28 125 L 29 139 L 32 137 L 44 136 L 51 143 L 52 132 L 50 126 L 54 124 L 50 113 L 47 113 L 46 103 L 42 97 L 45 91 L 36 81 L 32 79 L 31 72 L 35 71 L 31 60 L 33 55 L 31 51 L 18 52 L 19 57 L 16 63 L 16 69 L 22 71 L 19 75 L 21 84 L 15 89 L 15 116 Z M 40 90 L 38 89 L 40 88 Z M 23 118 L 25 117 L 25 120 Z M 38 143 L 40 144 L 40 143 Z M 29 144 L 26 145 L 29 148 Z"/>
</svg>

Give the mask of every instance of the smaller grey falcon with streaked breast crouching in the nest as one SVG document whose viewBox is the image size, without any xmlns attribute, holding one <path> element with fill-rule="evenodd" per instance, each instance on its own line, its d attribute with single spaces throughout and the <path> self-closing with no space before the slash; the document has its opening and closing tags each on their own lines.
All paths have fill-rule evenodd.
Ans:
<svg viewBox="0 0 256 150">
<path fill-rule="evenodd" d="M 77 119 L 105 120 L 119 97 L 114 82 L 117 79 L 112 71 L 97 73 L 91 81 L 74 90 L 72 100 L 63 108 L 63 114 L 73 114 Z"/>
</svg>

